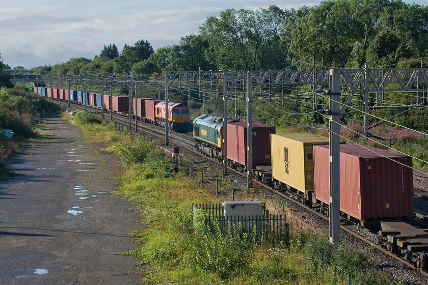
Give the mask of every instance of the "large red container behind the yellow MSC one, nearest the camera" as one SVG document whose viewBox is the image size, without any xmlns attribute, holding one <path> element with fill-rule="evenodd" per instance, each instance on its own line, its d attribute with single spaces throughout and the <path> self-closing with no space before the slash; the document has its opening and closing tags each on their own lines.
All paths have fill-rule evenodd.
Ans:
<svg viewBox="0 0 428 285">
<path fill-rule="evenodd" d="M 329 146 L 318 145 L 313 150 L 315 196 L 329 204 Z M 412 166 L 408 155 L 340 145 L 340 211 L 360 221 L 414 216 Z"/>
</svg>

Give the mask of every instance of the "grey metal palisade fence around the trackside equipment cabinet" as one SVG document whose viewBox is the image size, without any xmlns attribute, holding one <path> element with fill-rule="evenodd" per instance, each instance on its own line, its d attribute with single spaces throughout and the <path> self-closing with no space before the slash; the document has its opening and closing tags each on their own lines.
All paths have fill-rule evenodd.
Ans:
<svg viewBox="0 0 428 285">
<path fill-rule="evenodd" d="M 248 234 L 250 238 L 256 235 L 256 240 L 262 238 L 276 241 L 288 240 L 288 223 L 285 216 L 271 215 L 268 210 L 263 210 L 262 215 L 251 216 L 225 216 L 221 204 L 193 204 L 192 211 L 195 216 L 197 210 L 204 211 L 204 225 L 213 226 L 219 223 L 221 229 L 234 229 L 241 237 Z"/>
</svg>

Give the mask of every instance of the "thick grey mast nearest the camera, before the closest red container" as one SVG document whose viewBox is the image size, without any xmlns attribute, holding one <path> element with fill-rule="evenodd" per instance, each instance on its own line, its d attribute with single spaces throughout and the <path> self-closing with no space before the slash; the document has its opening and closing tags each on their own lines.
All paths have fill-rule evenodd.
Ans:
<svg viewBox="0 0 428 285">
<path fill-rule="evenodd" d="M 330 69 L 330 242 L 340 242 L 340 71 Z"/>
</svg>

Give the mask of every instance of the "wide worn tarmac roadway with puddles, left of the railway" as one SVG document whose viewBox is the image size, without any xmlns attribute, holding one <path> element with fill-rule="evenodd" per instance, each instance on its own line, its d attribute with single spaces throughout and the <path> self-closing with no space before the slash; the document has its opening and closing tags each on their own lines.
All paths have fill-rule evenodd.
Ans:
<svg viewBox="0 0 428 285">
<path fill-rule="evenodd" d="M 8 160 L 18 175 L 0 181 L 0 284 L 139 284 L 138 214 L 111 191 L 120 164 L 79 143 L 81 133 L 56 116 L 48 135 Z"/>
</svg>

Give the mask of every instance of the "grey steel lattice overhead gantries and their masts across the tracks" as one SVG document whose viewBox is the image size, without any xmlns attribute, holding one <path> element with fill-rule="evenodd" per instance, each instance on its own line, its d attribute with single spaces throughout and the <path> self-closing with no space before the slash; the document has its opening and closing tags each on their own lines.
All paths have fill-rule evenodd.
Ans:
<svg viewBox="0 0 428 285">
<path fill-rule="evenodd" d="M 100 73 L 96 75 L 55 75 L 55 76 L 29 76 L 13 75 L 12 82 L 24 81 L 35 82 L 35 86 L 43 86 L 46 83 L 60 82 L 65 85 L 82 84 L 84 79 L 89 80 L 92 85 L 100 84 L 102 94 L 104 94 L 104 84 L 117 83 L 125 84 L 131 89 L 132 84 L 147 89 L 165 90 L 165 99 L 168 100 L 169 90 L 185 90 L 188 92 L 188 101 L 190 102 L 191 89 L 199 89 L 201 93 L 201 84 L 205 86 L 222 87 L 223 90 L 223 118 L 224 118 L 224 175 L 227 175 L 227 100 L 232 99 L 231 93 L 234 89 L 242 88 L 246 90 L 246 108 L 247 108 L 247 186 L 251 188 L 253 178 L 253 100 L 257 93 L 263 90 L 263 86 L 272 85 L 303 85 L 310 84 L 313 90 L 313 110 L 317 110 L 317 86 L 329 86 L 330 89 L 324 91 L 329 98 L 329 108 L 323 110 L 330 116 L 330 241 L 339 243 L 339 218 L 340 218 L 340 193 L 339 193 L 339 121 L 346 111 L 347 106 L 352 102 L 357 93 L 364 94 L 364 117 L 365 127 L 364 135 L 367 138 L 368 123 L 367 114 L 369 111 L 368 94 L 378 92 L 414 92 L 417 93 L 417 104 L 407 106 L 409 108 L 425 106 L 428 103 L 428 69 L 427 68 L 365 68 L 360 69 L 330 69 L 330 70 L 280 70 L 280 71 L 188 71 L 188 72 L 166 72 L 165 74 L 152 75 L 129 75 Z M 208 83 L 207 83 L 208 82 Z M 52 84 L 52 83 L 51 83 Z M 112 87 L 111 93 L 112 93 Z M 129 93 L 132 92 L 129 90 Z M 343 102 L 340 102 L 340 94 L 347 94 Z M 421 93 L 421 96 L 419 94 Z M 137 97 L 137 96 L 136 96 Z M 101 97 L 103 98 L 103 96 Z M 102 99 L 103 100 L 103 99 Z M 376 96 L 376 103 L 378 96 Z M 236 98 L 235 98 L 236 104 Z M 341 105 L 341 107 L 340 107 Z M 379 107 L 379 106 L 378 106 Z M 236 106 L 235 106 L 236 109 Z M 131 111 L 131 110 L 129 110 Z M 102 112 L 103 116 L 103 112 Z M 236 114 L 235 114 L 236 116 Z M 397 116 L 397 115 L 396 115 Z M 391 119 L 391 118 L 390 118 Z M 385 120 L 388 121 L 389 119 Z M 168 124 L 166 124 L 166 145 L 168 140 Z"/>
</svg>

